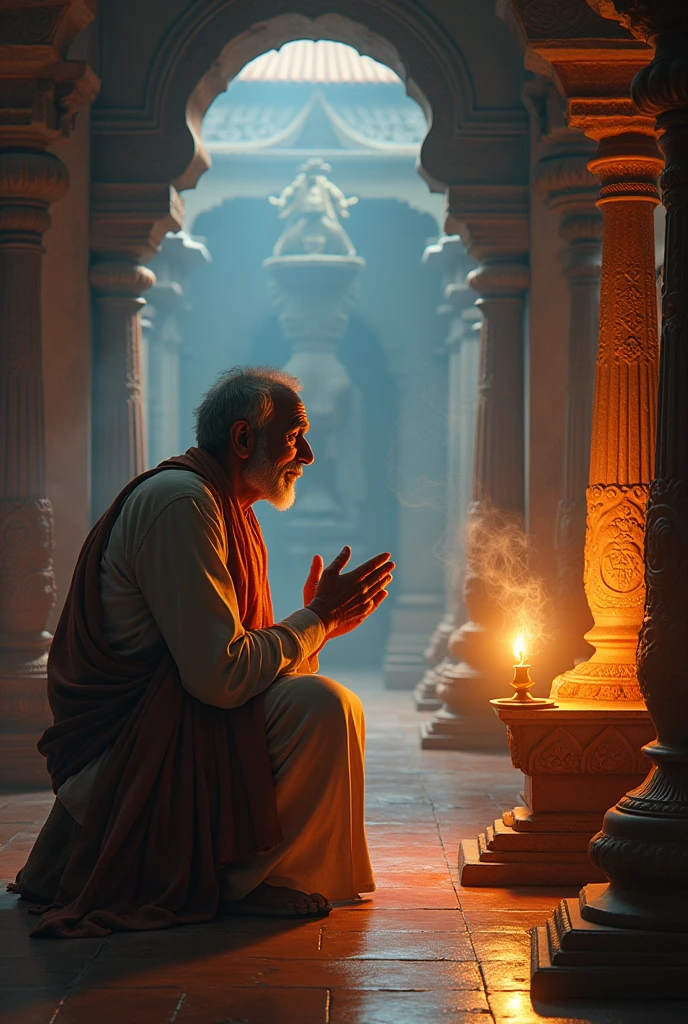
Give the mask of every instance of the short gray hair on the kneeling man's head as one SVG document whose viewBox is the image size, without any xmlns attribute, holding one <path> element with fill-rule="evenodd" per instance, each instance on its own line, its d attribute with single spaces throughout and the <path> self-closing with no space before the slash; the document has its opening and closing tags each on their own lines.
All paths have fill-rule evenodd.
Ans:
<svg viewBox="0 0 688 1024">
<path fill-rule="evenodd" d="M 260 432 L 274 412 L 275 395 L 300 390 L 301 381 L 275 367 L 232 367 L 220 374 L 193 412 L 197 444 L 223 452 L 232 423 L 246 420 Z"/>
</svg>

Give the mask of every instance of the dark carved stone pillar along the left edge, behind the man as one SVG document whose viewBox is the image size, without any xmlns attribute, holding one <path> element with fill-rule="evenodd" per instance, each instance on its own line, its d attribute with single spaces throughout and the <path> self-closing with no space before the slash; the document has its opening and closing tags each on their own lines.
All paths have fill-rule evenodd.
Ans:
<svg viewBox="0 0 688 1024">
<path fill-rule="evenodd" d="M 46 694 L 55 601 L 52 508 L 45 493 L 41 347 L 43 234 L 68 173 L 47 146 L 69 136 L 97 91 L 64 60 L 93 13 L 83 3 L 16 9 L 0 19 L 0 780 L 46 785 L 36 740 L 51 721 Z"/>
</svg>

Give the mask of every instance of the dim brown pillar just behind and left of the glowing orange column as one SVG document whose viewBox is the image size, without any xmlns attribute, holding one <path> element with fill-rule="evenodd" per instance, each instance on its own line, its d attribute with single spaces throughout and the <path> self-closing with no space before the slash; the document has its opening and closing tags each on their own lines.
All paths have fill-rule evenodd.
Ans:
<svg viewBox="0 0 688 1024">
<path fill-rule="evenodd" d="M 557 654 L 564 665 L 591 653 L 584 640 L 591 620 L 583 580 L 602 250 L 602 215 L 596 207 L 600 188 L 588 170 L 593 150 L 594 144 L 579 136 L 575 148 L 547 154 L 533 170 L 535 189 L 560 218 L 562 267 L 570 296 L 564 465 L 556 524 Z"/>
</svg>

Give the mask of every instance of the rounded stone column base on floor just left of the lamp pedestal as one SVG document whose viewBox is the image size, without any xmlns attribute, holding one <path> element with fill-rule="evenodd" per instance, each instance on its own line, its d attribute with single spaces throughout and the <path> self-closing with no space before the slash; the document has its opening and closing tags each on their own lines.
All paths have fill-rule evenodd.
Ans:
<svg viewBox="0 0 688 1024">
<path fill-rule="evenodd" d="M 489 705 L 496 686 L 492 673 L 449 662 L 437 683 L 444 706 L 421 726 L 422 750 L 504 751 L 505 729 Z"/>
</svg>

